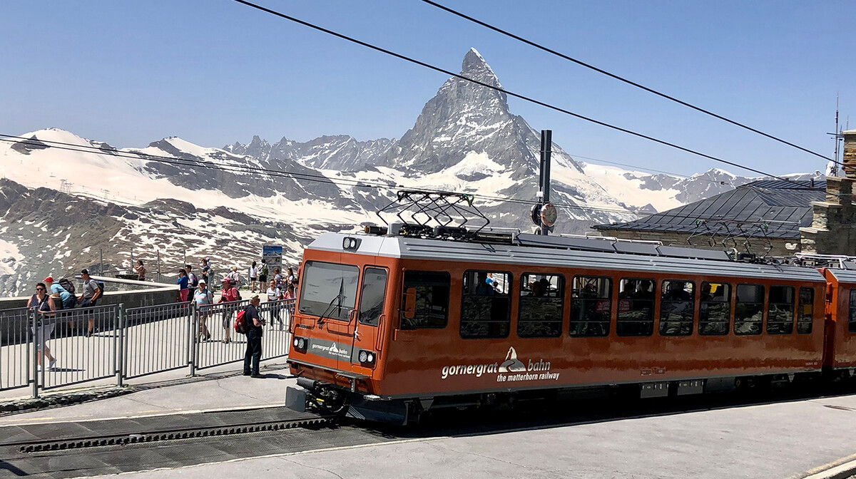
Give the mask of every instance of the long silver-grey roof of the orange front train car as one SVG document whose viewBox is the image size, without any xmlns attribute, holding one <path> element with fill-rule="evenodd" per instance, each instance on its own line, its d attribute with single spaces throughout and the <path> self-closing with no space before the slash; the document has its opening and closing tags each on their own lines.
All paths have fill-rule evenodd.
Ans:
<svg viewBox="0 0 856 479">
<path fill-rule="evenodd" d="M 358 241 L 354 247 L 346 250 L 343 246 L 346 238 Z M 531 264 L 611 271 L 657 271 L 675 275 L 824 281 L 823 275 L 814 268 L 735 262 L 724 259 L 728 258 L 728 255 L 720 255 L 717 251 L 645 243 L 616 246 L 621 242 L 610 243 L 603 239 L 588 241 L 592 243 L 586 243 L 586 239 L 516 234 L 512 244 L 496 244 L 407 236 L 326 233 L 315 239 L 307 249 L 469 263 Z M 856 278 L 856 271 L 853 274 Z"/>
</svg>

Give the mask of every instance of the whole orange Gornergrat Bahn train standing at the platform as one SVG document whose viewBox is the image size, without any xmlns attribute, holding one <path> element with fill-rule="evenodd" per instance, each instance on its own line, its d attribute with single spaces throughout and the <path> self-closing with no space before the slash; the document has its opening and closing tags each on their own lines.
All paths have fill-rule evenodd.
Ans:
<svg viewBox="0 0 856 479">
<path fill-rule="evenodd" d="M 394 224 L 306 248 L 289 407 L 408 423 L 434 408 L 618 385 L 657 397 L 853 376 L 846 262 L 440 229 Z"/>
</svg>

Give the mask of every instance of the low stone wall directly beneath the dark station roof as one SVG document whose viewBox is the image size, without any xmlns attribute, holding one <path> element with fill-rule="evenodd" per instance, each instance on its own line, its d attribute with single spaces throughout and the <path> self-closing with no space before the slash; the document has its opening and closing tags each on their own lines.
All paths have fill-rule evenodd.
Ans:
<svg viewBox="0 0 856 479">
<path fill-rule="evenodd" d="M 603 236 L 615 236 L 615 238 L 621 239 L 644 239 L 648 241 L 661 241 L 663 242 L 663 245 L 667 246 L 683 246 L 716 251 L 723 251 L 736 247 L 737 251 L 739 252 L 746 252 L 747 249 L 746 245 L 744 245 L 744 243 L 746 242 L 746 238 L 744 237 L 737 237 L 733 240 L 729 239 L 726 245 L 723 246 L 722 237 L 719 237 L 713 245 L 710 245 L 710 243 L 708 243 L 708 239 L 710 239 L 709 235 L 696 236 L 695 238 L 690 239 L 690 236 L 692 236 L 692 234 L 688 233 L 611 229 L 601 229 L 600 231 Z M 692 244 L 687 243 L 687 240 L 691 240 Z M 736 241 L 736 245 L 734 245 L 734 241 Z M 769 241 L 767 241 L 765 239 L 749 238 L 748 241 L 749 252 L 757 254 L 758 256 L 787 256 L 793 255 L 795 252 L 800 251 L 799 239 L 771 238 Z M 795 249 L 788 249 L 785 246 L 788 243 L 794 246 Z M 770 245 L 772 245 L 772 249 L 769 249 Z"/>
</svg>

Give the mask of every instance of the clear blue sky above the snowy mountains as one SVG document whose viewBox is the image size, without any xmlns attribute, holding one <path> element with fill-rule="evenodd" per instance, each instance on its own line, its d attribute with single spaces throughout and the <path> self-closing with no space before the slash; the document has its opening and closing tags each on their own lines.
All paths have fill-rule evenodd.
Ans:
<svg viewBox="0 0 856 479">
<path fill-rule="evenodd" d="M 830 155 L 835 95 L 856 128 L 850 1 L 439 0 L 532 41 Z M 259 0 L 581 115 L 783 174 L 823 160 L 490 32 L 419 0 Z M 538 9 L 533 6 L 538 6 Z M 0 133 L 60 127 L 119 147 L 399 138 L 446 76 L 229 0 L 3 0 Z M 848 23 L 849 22 L 849 23 Z M 713 166 L 509 98 L 572 155 L 679 174 Z M 738 169 L 723 167 L 733 173 Z"/>
</svg>

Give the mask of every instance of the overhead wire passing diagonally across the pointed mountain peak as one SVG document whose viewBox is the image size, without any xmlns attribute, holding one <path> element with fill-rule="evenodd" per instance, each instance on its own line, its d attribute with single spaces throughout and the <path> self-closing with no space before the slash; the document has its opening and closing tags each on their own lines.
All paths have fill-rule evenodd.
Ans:
<svg viewBox="0 0 856 479">
<path fill-rule="evenodd" d="M 472 82 L 472 83 L 479 85 L 479 86 L 484 86 L 484 87 L 490 88 L 491 90 L 496 90 L 497 92 L 505 93 L 508 96 L 511 96 L 514 98 L 520 98 L 521 100 L 524 100 L 526 102 L 534 103 L 534 104 L 543 106 L 544 108 L 548 108 L 548 109 L 558 111 L 560 113 L 564 113 L 565 115 L 574 116 L 575 118 L 579 118 L 580 120 L 589 121 L 591 123 L 594 123 L 596 125 L 600 125 L 602 127 L 608 127 L 608 128 L 611 128 L 613 130 L 616 130 L 616 131 L 619 131 L 622 133 L 627 133 L 627 134 L 630 134 L 630 135 L 633 135 L 633 136 L 636 136 L 636 137 L 639 137 L 642 139 L 647 139 L 649 141 L 653 141 L 653 142 L 658 143 L 660 145 L 666 145 L 666 146 L 669 146 L 671 148 L 675 148 L 675 149 L 680 150 L 680 151 L 685 151 L 687 153 L 691 153 L 691 154 L 696 155 L 698 157 L 703 157 L 703 158 L 707 158 L 709 160 L 713 160 L 715 162 L 728 164 L 728 165 L 731 165 L 735 168 L 746 169 L 747 171 L 752 171 L 753 173 L 757 173 L 757 174 L 763 174 L 764 176 L 770 176 L 771 178 L 776 178 L 777 180 L 789 181 L 788 178 L 784 178 L 784 177 L 778 176 L 776 174 L 766 173 L 766 172 L 761 171 L 759 169 L 754 169 L 752 167 L 748 167 L 748 166 L 742 165 L 740 163 L 734 163 L 734 162 L 730 162 L 728 160 L 723 160 L 722 158 L 714 157 L 712 155 L 708 155 L 708 154 L 702 153 L 700 151 L 695 151 L 693 149 L 687 148 L 685 146 L 677 145 L 675 143 L 671 143 L 671 142 L 663 140 L 663 139 L 657 139 L 657 138 L 654 138 L 650 135 L 646 135 L 644 133 L 634 132 L 633 130 L 629 130 L 629 129 L 624 128 L 624 127 L 618 127 L 616 125 L 612 125 L 612 124 L 607 123 L 605 121 L 595 120 L 594 118 L 591 118 L 591 117 L 588 117 L 585 115 L 580 115 L 579 113 L 574 113 L 573 111 L 570 111 L 568 109 L 563 109 L 563 108 L 558 107 L 556 105 L 553 105 L 550 103 L 545 103 L 545 102 L 542 102 L 542 101 L 537 100 L 535 98 L 526 97 L 525 95 L 522 95 L 520 93 L 505 90 L 499 86 L 493 86 L 493 85 L 490 85 L 488 83 L 484 83 L 483 81 L 473 80 L 471 78 L 467 78 L 466 76 L 461 75 L 461 74 L 455 74 L 454 72 L 451 72 L 451 71 L 446 70 L 444 68 L 439 68 L 439 67 L 431 65 L 429 63 L 416 60 L 410 56 L 401 55 L 400 53 L 395 53 L 395 51 L 387 50 L 387 49 L 384 49 L 384 48 L 379 47 L 377 45 L 369 44 L 369 43 L 366 43 L 362 40 L 358 40 L 358 39 L 353 38 L 353 37 L 348 37 L 348 35 L 344 35 L 342 33 L 334 32 L 328 28 L 320 27 L 320 26 L 315 25 L 313 23 L 310 23 L 308 21 L 302 21 L 302 20 L 295 18 L 293 16 L 285 15 L 285 14 L 283 14 L 281 12 L 277 12 L 276 10 L 273 10 L 273 9 L 268 9 L 266 7 L 263 7 L 259 4 L 257 4 L 257 3 L 247 2 L 247 0 L 234 0 L 234 1 L 237 3 L 247 5 L 248 7 L 251 7 L 253 9 L 258 9 L 258 10 L 263 11 L 265 13 L 268 13 L 270 15 L 276 15 L 282 19 L 285 19 L 288 21 L 293 21 L 294 23 L 298 23 L 300 25 L 303 25 L 304 27 L 309 27 L 309 28 L 312 28 L 314 30 L 318 30 L 318 32 L 327 33 L 327 34 L 332 35 L 336 38 L 342 38 L 343 40 L 347 40 L 348 42 L 351 42 L 354 44 L 359 44 L 359 45 L 364 46 L 368 49 L 376 50 L 376 51 L 379 51 L 379 52 L 386 54 L 386 55 L 389 55 L 389 56 L 395 56 L 395 58 L 399 58 L 399 59 L 404 60 L 406 62 L 411 62 L 411 63 L 414 63 L 414 64 L 419 65 L 421 67 L 429 68 L 431 70 L 434 70 L 434 71 L 437 71 L 437 72 L 440 72 L 443 74 L 448 74 L 449 76 L 453 76 L 453 77 L 461 79 L 461 80 L 466 80 L 466 81 Z"/>
</svg>

